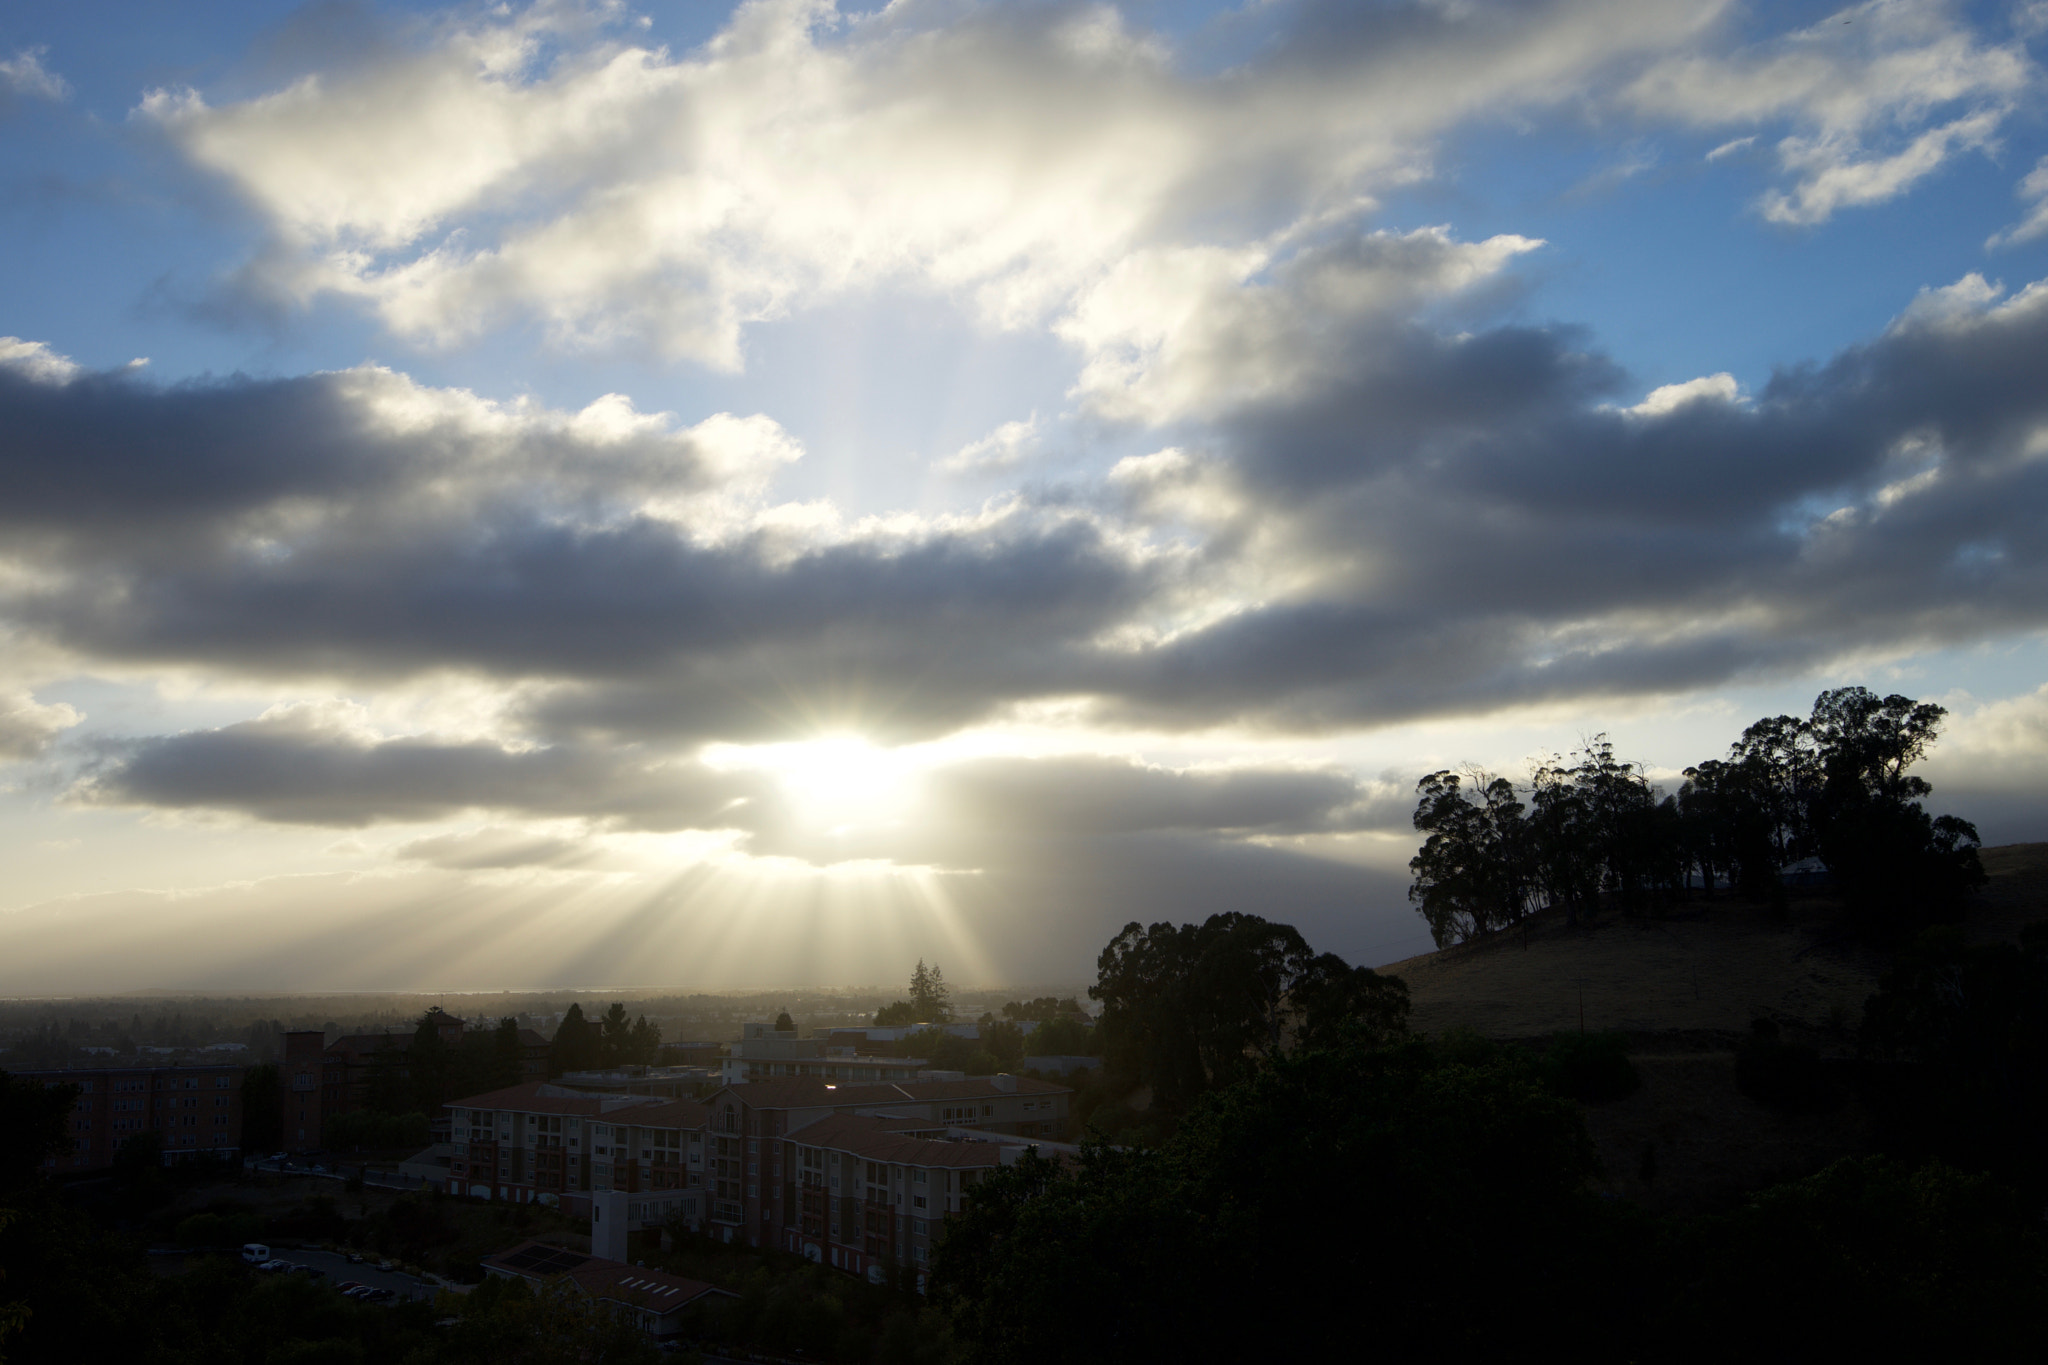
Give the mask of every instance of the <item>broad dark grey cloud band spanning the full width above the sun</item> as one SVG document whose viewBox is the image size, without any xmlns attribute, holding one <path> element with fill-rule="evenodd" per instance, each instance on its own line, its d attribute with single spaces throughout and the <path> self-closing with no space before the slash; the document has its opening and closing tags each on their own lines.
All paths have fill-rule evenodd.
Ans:
<svg viewBox="0 0 2048 1365">
<path fill-rule="evenodd" d="M 1571 332 L 1339 327 L 1290 397 L 1214 428 L 1190 477 L 1231 512 L 1182 559 L 1130 548 L 1167 518 L 1145 489 L 791 538 L 731 493 L 786 458 L 772 424 L 381 370 L 164 391 L 0 366 L 0 538 L 35 565 L 6 612 L 104 659 L 496 679 L 545 755 L 936 735 L 1038 698 L 1321 731 L 1677 692 L 2048 624 L 2048 295 L 1985 293 L 1753 399 L 1632 411 Z M 1153 634 L 1268 555 L 1311 587 Z"/>
</svg>

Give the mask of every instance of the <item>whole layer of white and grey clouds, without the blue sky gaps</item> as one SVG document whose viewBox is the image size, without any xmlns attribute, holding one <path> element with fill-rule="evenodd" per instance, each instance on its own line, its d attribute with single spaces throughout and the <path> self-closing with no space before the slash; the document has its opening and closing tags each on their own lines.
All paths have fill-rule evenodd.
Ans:
<svg viewBox="0 0 2048 1365">
<path fill-rule="evenodd" d="M 0 338 L 0 761 L 74 810 L 362 831 L 391 886 L 651 896 L 674 855 L 897 870 L 991 921 L 1274 888 L 1307 927 L 1399 896 L 1325 853 L 1401 831 L 1403 782 L 1108 741 L 1307 745 L 2042 632 L 2048 282 L 1964 274 L 1749 391 L 1649 389 L 1516 307 L 1538 237 L 1386 217 L 1460 133 L 1550 121 L 1694 137 L 1763 176 L 1743 231 L 1819 231 L 1995 151 L 2038 88 L 1946 4 L 1757 23 L 1305 2 L 1174 41 L 1106 6 L 756 0 L 678 55 L 561 2 L 152 92 L 131 125 L 256 223 L 229 293 L 723 372 L 764 319 L 942 299 L 1063 346 L 1067 409 L 936 463 L 944 497 L 1016 487 L 854 518 L 788 495 L 774 413 L 373 364 L 158 385 Z M 0 80 L 66 94 L 33 51 Z M 1995 246 L 2040 235 L 2042 176 Z M 96 729 L 43 694 L 80 675 L 221 696 Z M 1067 749 L 961 743 L 1034 724 Z M 772 751 L 848 733 L 915 772 Z M 2040 767 L 1972 743 L 1985 790 Z"/>
</svg>

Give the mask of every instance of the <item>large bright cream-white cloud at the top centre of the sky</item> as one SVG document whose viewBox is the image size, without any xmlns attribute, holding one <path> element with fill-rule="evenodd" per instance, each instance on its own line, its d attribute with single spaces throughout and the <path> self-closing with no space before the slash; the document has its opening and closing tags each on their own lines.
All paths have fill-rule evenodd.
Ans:
<svg viewBox="0 0 2048 1365">
<path fill-rule="evenodd" d="M 1352 211 L 1454 123 L 1577 98 L 1714 8 L 1362 12 L 1335 47 L 1221 76 L 1110 8 L 758 0 L 680 59 L 569 6 L 500 8 L 360 72 L 221 106 L 156 92 L 139 117 L 272 225 L 246 287 L 352 295 L 426 342 L 535 315 L 737 368 L 748 321 L 821 295 L 909 280 L 1038 323 L 1217 225 Z"/>
</svg>

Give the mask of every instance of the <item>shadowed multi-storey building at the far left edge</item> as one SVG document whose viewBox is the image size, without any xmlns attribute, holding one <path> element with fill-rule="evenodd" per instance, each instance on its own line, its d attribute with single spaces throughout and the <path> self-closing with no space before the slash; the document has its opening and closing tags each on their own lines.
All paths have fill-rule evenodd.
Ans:
<svg viewBox="0 0 2048 1365">
<path fill-rule="evenodd" d="M 70 1148 L 43 1160 L 45 1171 L 100 1171 L 135 1134 L 154 1132 L 164 1160 L 233 1158 L 242 1152 L 242 1076 L 225 1066 L 104 1066 L 25 1070 L 23 1081 L 76 1085 L 66 1119 Z"/>
</svg>

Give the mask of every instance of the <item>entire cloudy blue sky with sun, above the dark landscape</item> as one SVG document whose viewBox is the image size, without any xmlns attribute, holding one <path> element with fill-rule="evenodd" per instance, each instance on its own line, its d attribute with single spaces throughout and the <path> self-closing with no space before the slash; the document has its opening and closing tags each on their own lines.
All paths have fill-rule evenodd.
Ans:
<svg viewBox="0 0 2048 1365">
<path fill-rule="evenodd" d="M 0 10 L 0 995 L 1384 964 L 1862 684 L 2048 839 L 2048 4 Z"/>
</svg>

